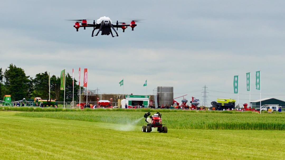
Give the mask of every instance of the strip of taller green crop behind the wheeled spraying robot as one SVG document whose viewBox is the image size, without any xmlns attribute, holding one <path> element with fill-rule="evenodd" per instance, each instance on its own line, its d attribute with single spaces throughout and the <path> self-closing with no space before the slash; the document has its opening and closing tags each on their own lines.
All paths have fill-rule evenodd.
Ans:
<svg viewBox="0 0 285 160">
<path fill-rule="evenodd" d="M 152 112 L 154 114 L 156 112 Z M 127 124 L 143 117 L 144 112 L 23 112 L 16 115 Z M 284 114 L 225 114 L 203 112 L 162 113 L 162 122 L 174 129 L 285 130 Z M 146 122 L 141 119 L 138 125 Z"/>
</svg>

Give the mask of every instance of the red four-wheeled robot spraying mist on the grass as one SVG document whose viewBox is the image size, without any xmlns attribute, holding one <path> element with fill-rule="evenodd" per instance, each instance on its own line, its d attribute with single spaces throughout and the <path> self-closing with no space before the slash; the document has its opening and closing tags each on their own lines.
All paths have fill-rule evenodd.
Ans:
<svg viewBox="0 0 285 160">
<path fill-rule="evenodd" d="M 165 124 L 162 124 L 161 114 L 159 112 L 157 112 L 153 116 L 148 116 L 150 116 L 149 112 L 145 113 L 143 116 L 145 118 L 145 121 L 147 122 L 147 125 L 142 127 L 142 132 L 151 132 L 152 128 L 157 128 L 157 131 L 159 133 L 167 133 L 167 127 L 162 126 Z"/>
</svg>

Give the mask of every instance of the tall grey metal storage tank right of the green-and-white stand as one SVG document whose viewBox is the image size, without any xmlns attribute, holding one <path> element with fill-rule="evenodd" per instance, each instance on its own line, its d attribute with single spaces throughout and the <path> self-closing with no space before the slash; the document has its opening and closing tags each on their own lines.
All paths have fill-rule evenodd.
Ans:
<svg viewBox="0 0 285 160">
<path fill-rule="evenodd" d="M 157 87 L 157 102 L 158 105 L 165 106 L 173 103 L 173 87 Z"/>
</svg>

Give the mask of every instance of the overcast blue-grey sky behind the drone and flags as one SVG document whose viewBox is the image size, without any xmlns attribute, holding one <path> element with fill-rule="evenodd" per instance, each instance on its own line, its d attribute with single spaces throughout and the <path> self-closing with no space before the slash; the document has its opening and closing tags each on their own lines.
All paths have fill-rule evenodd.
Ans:
<svg viewBox="0 0 285 160">
<path fill-rule="evenodd" d="M 102 93 L 144 95 L 157 86 L 173 86 L 174 97 L 201 99 L 209 87 L 208 103 L 237 99 L 233 76 L 240 76 L 239 103 L 248 102 L 246 72 L 261 70 L 262 98 L 285 100 L 285 1 L 88 1 L 1 0 L 0 68 L 10 63 L 26 74 L 66 68 L 88 68 L 88 89 Z M 137 23 L 134 31 L 119 28 L 119 37 L 91 37 L 91 28 L 73 27 L 65 19 L 109 16 Z M 90 21 L 91 22 L 91 21 Z M 192 92 L 195 91 L 195 92 Z M 228 92 L 228 93 L 223 93 Z M 180 100 L 180 99 L 179 99 Z"/>
</svg>

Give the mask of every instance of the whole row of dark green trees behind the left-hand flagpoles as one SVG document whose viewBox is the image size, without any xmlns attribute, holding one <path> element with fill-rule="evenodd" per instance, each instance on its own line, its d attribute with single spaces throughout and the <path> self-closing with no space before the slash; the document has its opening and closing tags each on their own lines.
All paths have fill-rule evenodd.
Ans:
<svg viewBox="0 0 285 160">
<path fill-rule="evenodd" d="M 77 99 L 79 85 L 74 80 L 74 100 Z M 83 87 L 82 87 L 83 89 Z M 19 101 L 23 98 L 34 99 L 34 97 L 48 98 L 48 72 L 38 73 L 34 78 L 26 76 L 22 68 L 10 64 L 4 73 L 0 68 L 0 95 L 11 95 L 12 100 Z M 60 90 L 60 78 L 50 76 L 50 98 L 63 101 L 64 91 Z M 65 101 L 72 101 L 72 76 L 66 75 Z"/>
</svg>

